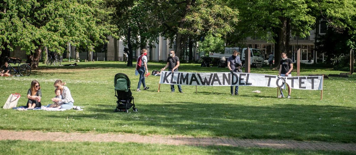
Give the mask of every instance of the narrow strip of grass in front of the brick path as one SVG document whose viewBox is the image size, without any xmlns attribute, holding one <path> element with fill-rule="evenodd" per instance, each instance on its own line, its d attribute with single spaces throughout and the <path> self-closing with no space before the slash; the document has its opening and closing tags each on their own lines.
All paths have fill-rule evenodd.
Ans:
<svg viewBox="0 0 356 155">
<path fill-rule="evenodd" d="M 351 155 L 341 151 L 308 151 L 269 148 L 240 148 L 230 146 L 174 146 L 140 143 L 50 142 L 50 141 L 0 141 L 0 152 L 11 155 L 38 154 L 189 154 L 189 155 Z"/>
</svg>

